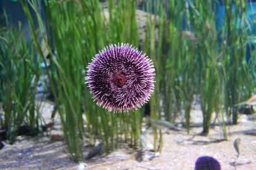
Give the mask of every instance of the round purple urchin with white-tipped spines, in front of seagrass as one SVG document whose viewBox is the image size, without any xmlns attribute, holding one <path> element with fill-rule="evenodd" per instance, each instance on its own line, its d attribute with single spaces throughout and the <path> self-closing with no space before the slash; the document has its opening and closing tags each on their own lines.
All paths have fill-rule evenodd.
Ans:
<svg viewBox="0 0 256 170">
<path fill-rule="evenodd" d="M 127 112 L 149 101 L 155 69 L 151 59 L 129 44 L 102 49 L 87 68 L 86 83 L 99 106 Z"/>
</svg>

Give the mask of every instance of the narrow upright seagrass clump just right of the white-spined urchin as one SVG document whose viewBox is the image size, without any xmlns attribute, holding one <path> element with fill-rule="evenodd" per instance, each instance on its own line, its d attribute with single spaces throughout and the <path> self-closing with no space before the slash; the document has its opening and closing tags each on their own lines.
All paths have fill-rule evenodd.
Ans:
<svg viewBox="0 0 256 170">
<path fill-rule="evenodd" d="M 154 16 L 152 16 L 152 8 L 153 5 L 155 7 Z M 151 119 L 160 119 L 161 117 L 161 105 L 160 105 L 160 81 L 161 81 L 161 72 L 162 72 L 162 63 L 161 63 L 161 38 L 163 33 L 163 18 L 159 18 L 157 14 L 163 16 L 163 4 L 159 1 L 154 1 L 150 3 L 149 1 L 146 3 L 147 9 L 149 9 L 147 13 L 147 22 L 146 22 L 146 36 L 144 43 L 144 51 L 149 54 L 152 62 L 155 66 L 155 89 L 154 93 L 150 98 L 150 118 Z M 156 27 L 158 26 L 158 29 Z M 159 39 L 157 40 L 156 37 Z M 157 44 L 157 45 L 156 45 Z M 156 127 L 152 127 L 153 136 L 154 136 L 154 149 L 155 151 L 161 151 L 161 147 L 163 145 L 162 133 L 161 129 Z"/>
</svg>

